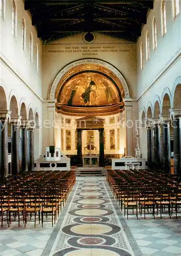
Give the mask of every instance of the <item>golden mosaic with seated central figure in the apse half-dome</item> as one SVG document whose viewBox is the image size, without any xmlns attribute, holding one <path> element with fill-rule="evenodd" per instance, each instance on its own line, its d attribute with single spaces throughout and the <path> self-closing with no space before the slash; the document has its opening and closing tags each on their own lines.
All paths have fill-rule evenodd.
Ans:
<svg viewBox="0 0 181 256">
<path fill-rule="evenodd" d="M 107 106 L 120 101 L 114 83 L 102 74 L 88 72 L 71 78 L 63 87 L 59 102 L 68 106 Z"/>
</svg>

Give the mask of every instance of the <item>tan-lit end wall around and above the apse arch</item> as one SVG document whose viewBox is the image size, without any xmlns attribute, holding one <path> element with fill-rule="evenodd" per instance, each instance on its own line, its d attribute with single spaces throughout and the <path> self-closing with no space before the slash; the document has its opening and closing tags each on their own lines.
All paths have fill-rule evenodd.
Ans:
<svg viewBox="0 0 181 256">
<path fill-rule="evenodd" d="M 109 36 L 95 34 L 96 40 L 93 44 L 83 41 L 83 34 L 78 34 L 65 39 L 57 40 L 51 44 L 43 45 L 43 98 L 47 99 L 48 89 L 54 77 L 68 63 L 82 58 L 98 58 L 114 65 L 126 78 L 131 88 L 132 98 L 137 98 L 137 63 L 136 44 L 112 38 Z M 68 47 L 92 47 L 97 52 L 81 52 L 77 50 L 68 52 Z M 106 52 L 104 47 L 113 47 L 112 52 Z M 114 51 L 116 50 L 116 51 Z M 93 54 L 93 55 L 90 55 Z M 94 55 L 95 54 L 95 55 Z"/>
</svg>

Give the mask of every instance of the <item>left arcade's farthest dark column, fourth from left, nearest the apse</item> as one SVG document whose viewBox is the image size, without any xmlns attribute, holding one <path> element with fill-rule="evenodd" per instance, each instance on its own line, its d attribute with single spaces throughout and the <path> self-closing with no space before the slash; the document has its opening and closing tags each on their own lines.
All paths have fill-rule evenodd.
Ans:
<svg viewBox="0 0 181 256">
<path fill-rule="evenodd" d="M 34 170 L 35 160 L 34 160 L 34 125 L 29 126 L 29 136 L 30 136 L 30 162 L 28 166 L 29 172 L 32 172 Z"/>
</svg>

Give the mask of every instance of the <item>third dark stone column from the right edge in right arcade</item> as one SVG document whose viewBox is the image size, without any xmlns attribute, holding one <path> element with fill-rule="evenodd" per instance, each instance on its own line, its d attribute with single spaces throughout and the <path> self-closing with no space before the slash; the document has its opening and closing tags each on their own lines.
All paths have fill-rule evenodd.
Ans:
<svg viewBox="0 0 181 256">
<path fill-rule="evenodd" d="M 160 120 L 154 119 L 153 128 L 153 166 L 161 168 L 161 135 L 160 135 Z"/>
</svg>

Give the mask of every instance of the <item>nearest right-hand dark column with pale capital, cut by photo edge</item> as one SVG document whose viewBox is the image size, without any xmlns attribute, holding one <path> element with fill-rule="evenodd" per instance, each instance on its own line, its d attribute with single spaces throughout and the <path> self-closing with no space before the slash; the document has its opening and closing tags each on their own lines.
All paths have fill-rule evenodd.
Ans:
<svg viewBox="0 0 181 256">
<path fill-rule="evenodd" d="M 173 163 L 174 163 L 174 174 L 181 176 L 181 110 L 169 109 L 172 117 L 173 127 Z"/>
</svg>

